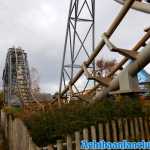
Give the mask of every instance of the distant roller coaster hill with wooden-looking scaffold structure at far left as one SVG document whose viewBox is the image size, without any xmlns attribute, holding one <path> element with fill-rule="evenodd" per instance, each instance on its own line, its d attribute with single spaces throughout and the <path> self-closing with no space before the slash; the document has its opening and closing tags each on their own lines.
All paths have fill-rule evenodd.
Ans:
<svg viewBox="0 0 150 150">
<path fill-rule="evenodd" d="M 31 81 L 27 54 L 21 48 L 10 48 L 3 72 L 5 104 L 24 105 L 31 100 Z"/>
</svg>

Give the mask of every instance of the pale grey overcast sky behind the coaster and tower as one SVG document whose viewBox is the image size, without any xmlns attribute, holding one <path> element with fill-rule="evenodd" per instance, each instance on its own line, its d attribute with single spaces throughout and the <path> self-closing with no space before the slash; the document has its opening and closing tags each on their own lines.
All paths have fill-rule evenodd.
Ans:
<svg viewBox="0 0 150 150">
<path fill-rule="evenodd" d="M 0 78 L 7 49 L 20 46 L 28 53 L 30 68 L 39 72 L 42 91 L 57 91 L 69 3 L 70 0 L 0 0 Z M 96 0 L 96 43 L 120 8 L 113 0 Z M 119 47 L 131 48 L 149 25 L 149 15 L 131 10 L 112 41 Z"/>
</svg>

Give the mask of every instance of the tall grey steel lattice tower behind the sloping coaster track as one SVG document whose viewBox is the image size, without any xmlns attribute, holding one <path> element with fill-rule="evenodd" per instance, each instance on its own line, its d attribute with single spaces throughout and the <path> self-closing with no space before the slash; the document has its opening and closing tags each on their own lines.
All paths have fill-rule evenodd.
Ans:
<svg viewBox="0 0 150 150">
<path fill-rule="evenodd" d="M 60 89 L 70 84 L 84 60 L 87 60 L 95 48 L 95 0 L 71 0 L 66 38 L 64 44 Z M 95 61 L 89 66 L 95 70 Z M 82 78 L 81 83 L 70 86 L 74 94 L 84 93 L 94 86 L 94 81 Z M 81 87 L 82 85 L 82 87 Z M 84 85 L 84 86 L 83 86 Z M 69 92 L 69 93 L 70 93 Z M 69 94 L 67 93 L 67 95 Z"/>
</svg>

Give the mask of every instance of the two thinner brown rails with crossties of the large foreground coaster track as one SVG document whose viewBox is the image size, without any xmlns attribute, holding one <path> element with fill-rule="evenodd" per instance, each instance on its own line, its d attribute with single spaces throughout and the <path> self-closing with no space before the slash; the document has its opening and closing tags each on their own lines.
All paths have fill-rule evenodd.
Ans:
<svg viewBox="0 0 150 150">
<path fill-rule="evenodd" d="M 122 69 L 123 65 L 127 62 L 128 59 L 137 60 L 138 53 L 136 51 L 138 51 L 142 46 L 145 46 L 146 41 L 150 37 L 150 30 L 149 30 L 150 28 L 147 28 L 145 30 L 146 34 L 135 45 L 135 47 L 132 49 L 132 51 L 131 50 L 127 50 L 127 49 L 118 48 L 118 47 L 114 46 L 111 43 L 111 41 L 109 40 L 111 38 L 112 34 L 117 29 L 117 27 L 120 25 L 121 21 L 124 19 L 125 15 L 128 13 L 129 9 L 132 7 L 133 4 L 135 4 L 134 2 L 135 2 L 135 0 L 126 0 L 124 2 L 124 5 L 123 5 L 122 9 L 120 10 L 120 12 L 118 13 L 118 15 L 114 19 L 113 23 L 108 28 L 108 30 L 102 35 L 102 39 L 98 43 L 97 47 L 94 49 L 93 53 L 87 59 L 86 58 L 83 59 L 83 60 L 86 60 L 86 62 L 83 62 L 81 64 L 80 70 L 75 74 L 75 76 L 73 78 L 71 78 L 71 81 L 69 82 L 69 84 L 67 86 L 65 86 L 63 90 L 60 90 L 60 95 L 59 95 L 59 98 L 58 98 L 58 102 L 59 102 L 58 104 L 60 104 L 60 100 L 61 100 L 60 98 L 63 97 L 66 93 L 68 93 L 68 91 L 70 91 L 70 87 L 74 86 L 77 83 L 77 81 L 81 79 L 81 77 L 82 77 L 83 74 L 85 74 L 85 76 L 87 77 L 87 79 L 98 81 L 98 84 L 96 84 L 96 86 L 93 89 L 91 89 L 90 92 L 88 92 L 88 94 L 95 92 L 96 89 L 100 85 L 103 85 L 105 87 L 105 91 L 102 91 L 102 96 L 104 96 L 106 93 L 108 94 L 108 91 L 110 91 L 111 82 L 113 82 L 113 81 L 109 80 L 110 77 L 112 75 L 114 75 L 117 71 L 119 71 L 120 69 Z M 66 40 L 67 40 L 67 38 L 66 38 Z M 95 57 L 101 52 L 101 50 L 103 49 L 103 47 L 105 45 L 108 47 L 108 49 L 110 49 L 110 51 L 117 52 L 117 53 L 119 53 L 119 54 L 121 54 L 121 55 L 123 55 L 125 57 L 114 68 L 114 70 L 112 70 L 112 72 L 108 75 L 108 77 L 106 77 L 106 79 L 104 80 L 102 78 L 97 78 L 96 76 L 92 75 L 92 73 L 91 73 L 91 71 L 89 71 L 88 67 L 93 63 Z M 64 52 L 64 58 L 65 58 L 65 54 L 66 53 Z M 63 64 L 63 66 L 64 66 L 64 64 Z M 63 72 L 63 69 L 62 69 L 62 72 Z M 126 71 L 126 75 L 128 75 L 128 71 Z M 135 78 L 136 78 L 136 76 L 135 76 Z M 132 81 L 134 81 L 134 79 Z M 129 81 L 127 81 L 127 82 L 128 82 L 128 84 L 130 84 Z M 61 80 L 61 83 L 62 83 L 62 80 Z M 122 83 L 120 83 L 120 84 L 123 85 Z M 135 83 L 135 85 L 136 85 L 136 83 Z M 113 86 L 114 86 L 114 84 L 113 84 Z M 114 90 L 115 88 L 112 88 L 112 89 Z M 131 91 L 134 91 L 134 90 L 131 89 Z M 102 96 L 101 95 L 98 96 L 98 99 L 100 99 L 100 97 L 102 97 Z M 92 96 L 90 98 L 90 100 L 91 99 L 95 100 L 95 99 L 97 99 L 97 97 L 93 97 Z M 55 102 L 57 102 L 57 100 L 53 101 L 52 103 L 55 103 Z"/>
</svg>

